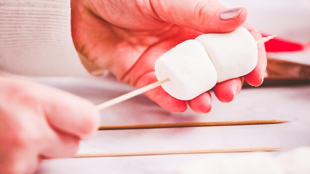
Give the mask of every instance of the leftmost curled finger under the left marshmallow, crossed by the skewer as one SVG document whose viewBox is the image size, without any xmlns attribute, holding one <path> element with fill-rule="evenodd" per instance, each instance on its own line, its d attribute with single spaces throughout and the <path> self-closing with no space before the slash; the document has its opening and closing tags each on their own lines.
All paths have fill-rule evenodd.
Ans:
<svg viewBox="0 0 310 174">
<path fill-rule="evenodd" d="M 155 72 L 149 72 L 144 74 L 137 81 L 136 87 L 144 87 L 154 82 L 157 82 Z M 164 91 L 162 87 L 151 89 L 147 91 L 145 95 L 164 109 L 173 112 L 184 112 L 187 109 L 186 101 L 178 100 L 172 97 L 166 91 Z"/>
</svg>

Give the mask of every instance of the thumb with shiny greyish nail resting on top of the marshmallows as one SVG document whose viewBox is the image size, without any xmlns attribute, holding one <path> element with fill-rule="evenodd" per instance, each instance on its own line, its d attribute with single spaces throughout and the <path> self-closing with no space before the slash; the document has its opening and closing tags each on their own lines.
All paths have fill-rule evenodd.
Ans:
<svg viewBox="0 0 310 174">
<path fill-rule="evenodd" d="M 202 33 L 227 33 L 240 27 L 247 10 L 225 8 L 216 0 L 152 0 L 158 17 Z"/>
</svg>

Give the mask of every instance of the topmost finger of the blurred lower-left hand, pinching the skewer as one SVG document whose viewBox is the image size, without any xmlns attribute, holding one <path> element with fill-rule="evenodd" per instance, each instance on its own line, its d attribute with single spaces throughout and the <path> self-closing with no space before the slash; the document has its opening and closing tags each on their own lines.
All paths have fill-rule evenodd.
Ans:
<svg viewBox="0 0 310 174">
<path fill-rule="evenodd" d="M 9 83 L 14 87 L 13 92 L 21 94 L 20 104 L 46 116 L 54 129 L 81 139 L 90 137 L 98 129 L 99 112 L 88 100 L 20 78 L 11 79 Z"/>
</svg>

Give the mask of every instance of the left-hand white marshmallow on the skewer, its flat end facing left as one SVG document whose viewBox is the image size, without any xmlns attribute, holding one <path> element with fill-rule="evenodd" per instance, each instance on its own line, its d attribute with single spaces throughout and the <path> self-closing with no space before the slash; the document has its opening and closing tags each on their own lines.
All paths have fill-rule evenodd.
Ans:
<svg viewBox="0 0 310 174">
<path fill-rule="evenodd" d="M 187 40 L 176 45 L 155 62 L 157 80 L 170 79 L 161 87 L 171 96 L 190 100 L 215 86 L 216 69 L 202 44 Z"/>
</svg>

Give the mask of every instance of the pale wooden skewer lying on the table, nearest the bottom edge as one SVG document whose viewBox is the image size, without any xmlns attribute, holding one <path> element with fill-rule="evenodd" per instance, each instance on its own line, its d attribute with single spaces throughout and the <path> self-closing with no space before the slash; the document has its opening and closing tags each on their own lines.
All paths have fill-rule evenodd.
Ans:
<svg viewBox="0 0 310 174">
<path fill-rule="evenodd" d="M 145 155 L 173 155 L 173 154 L 198 154 L 198 153 L 235 153 L 235 152 L 270 152 L 278 151 L 283 147 L 243 147 L 243 148 L 221 148 L 221 149 L 183 149 L 183 150 L 162 150 L 162 151 L 138 151 L 138 152 L 104 152 L 77 154 L 73 158 L 93 157 L 124 157 L 124 156 L 145 156 Z"/>
</svg>

